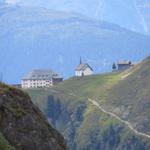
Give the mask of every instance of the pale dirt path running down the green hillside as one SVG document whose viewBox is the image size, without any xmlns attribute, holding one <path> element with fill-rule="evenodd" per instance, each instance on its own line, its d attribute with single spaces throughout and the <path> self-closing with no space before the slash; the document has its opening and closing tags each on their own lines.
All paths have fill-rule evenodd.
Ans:
<svg viewBox="0 0 150 150">
<path fill-rule="evenodd" d="M 130 130 L 132 130 L 135 134 L 150 139 L 150 135 L 137 131 L 137 130 L 132 126 L 132 124 L 131 124 L 130 122 L 121 119 L 119 116 L 117 116 L 116 114 L 114 114 L 114 113 L 112 113 L 112 112 L 106 111 L 104 108 L 102 108 L 102 107 L 100 106 L 100 104 L 99 104 L 97 101 L 92 100 L 92 99 L 90 99 L 90 98 L 89 98 L 88 100 L 89 100 L 89 102 L 91 102 L 94 106 L 96 106 L 97 108 L 99 108 L 99 109 L 100 109 L 102 112 L 104 112 L 105 114 L 108 114 L 108 115 L 110 115 L 110 116 L 116 118 L 116 119 L 119 120 L 120 122 L 124 123 L 125 125 L 127 125 L 128 128 L 129 128 Z"/>
</svg>

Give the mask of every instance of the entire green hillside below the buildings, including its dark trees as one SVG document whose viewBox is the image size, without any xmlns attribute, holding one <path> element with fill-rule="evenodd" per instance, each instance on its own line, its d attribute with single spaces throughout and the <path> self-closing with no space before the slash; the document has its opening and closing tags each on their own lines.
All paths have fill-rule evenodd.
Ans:
<svg viewBox="0 0 150 150">
<path fill-rule="evenodd" d="M 149 63 L 147 58 L 125 72 L 74 77 L 28 92 L 71 150 L 149 150 L 148 136 L 137 134 L 149 135 Z"/>
</svg>

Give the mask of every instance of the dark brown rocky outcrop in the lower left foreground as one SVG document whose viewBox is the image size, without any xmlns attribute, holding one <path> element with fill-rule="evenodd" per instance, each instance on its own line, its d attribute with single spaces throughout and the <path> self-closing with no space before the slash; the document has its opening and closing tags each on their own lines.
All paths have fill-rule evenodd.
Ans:
<svg viewBox="0 0 150 150">
<path fill-rule="evenodd" d="M 67 149 L 29 96 L 5 85 L 0 85 L 0 131 L 17 150 Z"/>
</svg>

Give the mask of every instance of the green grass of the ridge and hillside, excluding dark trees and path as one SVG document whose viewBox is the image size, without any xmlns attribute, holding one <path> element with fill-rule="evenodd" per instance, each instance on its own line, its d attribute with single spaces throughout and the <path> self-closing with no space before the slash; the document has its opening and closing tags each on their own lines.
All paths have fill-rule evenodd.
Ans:
<svg viewBox="0 0 150 150">
<path fill-rule="evenodd" d="M 128 74 L 129 76 L 126 76 Z M 126 78 L 122 78 L 123 76 L 126 76 Z M 81 103 L 86 104 L 87 108 L 83 113 L 84 119 L 76 133 L 76 140 L 80 146 L 79 149 L 85 148 L 88 145 L 90 146 L 92 142 L 94 143 L 93 139 L 99 141 L 103 138 L 101 136 L 106 136 L 107 131 L 111 130 L 112 127 L 122 128 L 118 130 L 118 135 L 116 134 L 116 136 L 119 136 L 118 138 L 123 143 L 128 141 L 130 137 L 135 136 L 134 133 L 130 132 L 117 119 L 96 109 L 87 99 L 99 100 L 103 107 L 109 111 L 120 108 L 120 112 L 118 113 L 120 116 L 131 106 L 128 119 L 136 123 L 136 125 L 142 123 L 143 120 L 147 120 L 145 118 L 150 118 L 148 110 L 150 99 L 150 60 L 145 60 L 125 72 L 80 78 L 73 77 L 50 89 L 32 89 L 27 92 L 29 92 L 33 102 L 43 112 L 47 109 L 49 95 L 53 95 L 55 99 L 60 99 L 70 114 Z M 124 110 L 122 110 L 122 106 Z M 145 109 L 141 110 L 141 107 Z M 150 120 L 147 126 L 149 124 Z M 149 132 L 148 128 L 143 131 Z M 139 141 L 142 140 L 140 139 Z"/>
</svg>

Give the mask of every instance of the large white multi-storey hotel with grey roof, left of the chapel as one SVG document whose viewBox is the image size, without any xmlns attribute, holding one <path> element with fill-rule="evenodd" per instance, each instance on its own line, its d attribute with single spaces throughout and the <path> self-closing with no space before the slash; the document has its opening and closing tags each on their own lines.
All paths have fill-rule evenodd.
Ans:
<svg viewBox="0 0 150 150">
<path fill-rule="evenodd" d="M 63 81 L 63 77 L 51 70 L 33 70 L 21 81 L 22 88 L 46 88 Z"/>
</svg>

